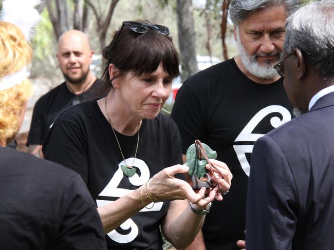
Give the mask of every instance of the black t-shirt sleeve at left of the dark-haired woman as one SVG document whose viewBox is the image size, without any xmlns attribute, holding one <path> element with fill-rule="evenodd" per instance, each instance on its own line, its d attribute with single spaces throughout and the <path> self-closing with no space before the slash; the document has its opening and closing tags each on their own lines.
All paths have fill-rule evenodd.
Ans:
<svg viewBox="0 0 334 250">
<path fill-rule="evenodd" d="M 42 151 L 45 159 L 76 171 L 88 183 L 86 139 L 75 124 L 56 120 L 46 134 Z"/>
</svg>

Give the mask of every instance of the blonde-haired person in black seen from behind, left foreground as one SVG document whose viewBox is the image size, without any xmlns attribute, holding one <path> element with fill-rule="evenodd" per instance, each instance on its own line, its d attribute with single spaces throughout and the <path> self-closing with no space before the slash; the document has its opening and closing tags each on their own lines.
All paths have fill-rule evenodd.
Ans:
<svg viewBox="0 0 334 250">
<path fill-rule="evenodd" d="M 101 221 L 81 177 L 6 147 L 32 94 L 26 77 L 32 51 L 20 28 L 3 21 L 0 55 L 1 249 L 105 249 Z"/>
</svg>

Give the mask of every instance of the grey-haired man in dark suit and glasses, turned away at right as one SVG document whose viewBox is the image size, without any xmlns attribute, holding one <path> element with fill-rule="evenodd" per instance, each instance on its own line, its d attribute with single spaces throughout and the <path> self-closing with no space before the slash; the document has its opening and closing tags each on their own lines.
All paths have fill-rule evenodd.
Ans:
<svg viewBox="0 0 334 250">
<path fill-rule="evenodd" d="M 286 23 L 284 88 L 301 116 L 253 149 L 247 194 L 247 250 L 333 249 L 334 2 L 321 1 Z"/>
</svg>

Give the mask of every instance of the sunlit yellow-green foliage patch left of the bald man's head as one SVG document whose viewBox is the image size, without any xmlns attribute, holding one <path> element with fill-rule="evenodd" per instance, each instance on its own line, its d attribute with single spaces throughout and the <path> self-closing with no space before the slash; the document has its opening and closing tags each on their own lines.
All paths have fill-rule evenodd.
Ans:
<svg viewBox="0 0 334 250">
<path fill-rule="evenodd" d="M 41 21 L 36 25 L 35 36 L 32 40 L 34 57 L 39 60 L 43 60 L 50 55 L 52 52 L 52 42 L 54 41 L 52 23 L 46 8 L 42 11 L 41 17 Z"/>
</svg>

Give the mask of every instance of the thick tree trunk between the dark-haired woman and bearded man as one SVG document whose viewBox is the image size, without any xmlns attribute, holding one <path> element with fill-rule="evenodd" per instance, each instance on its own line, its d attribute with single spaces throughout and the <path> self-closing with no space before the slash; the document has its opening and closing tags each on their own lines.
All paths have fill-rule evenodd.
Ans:
<svg viewBox="0 0 334 250">
<path fill-rule="evenodd" d="M 198 72 L 192 0 L 177 0 L 177 27 L 182 81 Z"/>
</svg>

